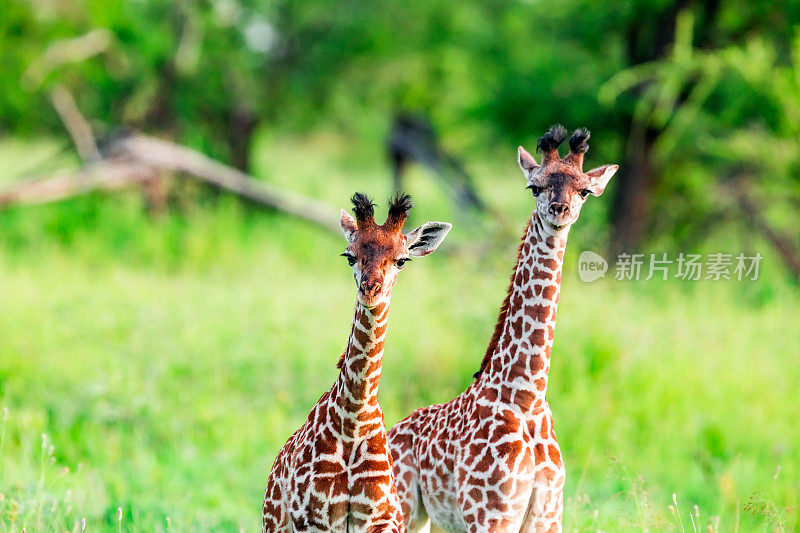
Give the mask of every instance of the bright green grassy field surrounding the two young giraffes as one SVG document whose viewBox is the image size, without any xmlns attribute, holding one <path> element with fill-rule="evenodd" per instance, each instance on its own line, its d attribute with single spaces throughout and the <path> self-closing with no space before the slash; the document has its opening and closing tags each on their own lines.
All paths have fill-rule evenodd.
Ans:
<svg viewBox="0 0 800 533">
<path fill-rule="evenodd" d="M 331 135 L 262 145 L 255 171 L 273 183 L 340 207 L 388 193 L 364 155 L 377 150 Z M 0 180 L 63 159 L 5 141 Z M 532 209 L 513 150 L 470 165 L 502 224 L 410 177 L 409 224 L 455 228 L 394 291 L 390 425 L 470 382 Z M 566 529 L 800 531 L 798 289 L 758 241 L 757 282 L 582 283 L 606 202 L 573 230 L 553 352 Z M 135 192 L 0 213 L 0 529 L 257 530 L 272 460 L 347 340 L 343 243 L 191 190 L 155 218 Z M 742 245 L 722 231 L 707 246 Z"/>
</svg>

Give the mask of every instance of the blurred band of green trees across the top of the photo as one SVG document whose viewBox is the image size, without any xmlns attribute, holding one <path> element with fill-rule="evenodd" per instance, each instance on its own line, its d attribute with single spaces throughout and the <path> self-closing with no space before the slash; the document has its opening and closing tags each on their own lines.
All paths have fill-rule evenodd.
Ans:
<svg viewBox="0 0 800 533">
<path fill-rule="evenodd" d="M 2 1 L 7 133 L 63 135 L 56 84 L 101 131 L 244 169 L 275 128 L 325 124 L 381 150 L 393 113 L 411 110 L 464 154 L 563 122 L 621 165 L 606 214 L 617 248 L 693 246 L 739 218 L 716 187 L 740 167 L 779 204 L 769 223 L 800 239 L 794 1 Z"/>
</svg>

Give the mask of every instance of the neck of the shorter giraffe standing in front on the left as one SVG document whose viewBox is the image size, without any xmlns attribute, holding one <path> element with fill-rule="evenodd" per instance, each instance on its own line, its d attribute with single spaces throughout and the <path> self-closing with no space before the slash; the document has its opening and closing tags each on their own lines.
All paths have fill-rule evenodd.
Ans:
<svg viewBox="0 0 800 533">
<path fill-rule="evenodd" d="M 356 306 L 350 339 L 331 394 L 336 418 L 339 419 L 334 421 L 334 427 L 346 442 L 368 438 L 383 428 L 378 385 L 388 316 L 388 299 L 373 308 L 360 303 Z"/>
</svg>

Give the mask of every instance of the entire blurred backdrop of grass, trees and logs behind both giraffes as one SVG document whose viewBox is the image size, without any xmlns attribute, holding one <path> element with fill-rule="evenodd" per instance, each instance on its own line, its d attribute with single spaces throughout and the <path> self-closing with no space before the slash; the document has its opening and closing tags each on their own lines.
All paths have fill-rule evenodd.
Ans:
<svg viewBox="0 0 800 533">
<path fill-rule="evenodd" d="M 0 0 L 0 64 L 4 531 L 257 530 L 355 191 L 454 224 L 394 290 L 387 425 L 462 391 L 554 123 L 620 165 L 565 261 L 566 530 L 800 531 L 800 3 Z M 763 259 L 615 280 L 637 252 Z"/>
</svg>

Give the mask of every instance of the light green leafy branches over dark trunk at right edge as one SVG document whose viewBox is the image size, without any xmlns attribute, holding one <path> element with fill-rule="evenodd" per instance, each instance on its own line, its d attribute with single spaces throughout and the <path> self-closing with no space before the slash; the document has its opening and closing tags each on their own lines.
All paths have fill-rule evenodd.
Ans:
<svg viewBox="0 0 800 533">
<path fill-rule="evenodd" d="M 796 239 L 800 28 L 786 50 L 759 33 L 741 44 L 698 50 L 695 22 L 690 11 L 682 12 L 668 57 L 622 71 L 600 92 L 601 102 L 612 105 L 637 91 L 635 121 L 660 132 L 653 151 L 665 171 L 653 195 L 655 233 L 678 246 L 720 223 L 747 233 L 753 220 L 738 212 L 733 197 L 739 193 L 753 197 L 762 216 L 791 228 Z"/>
</svg>

